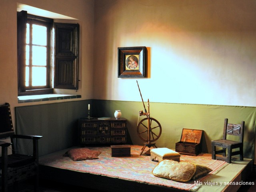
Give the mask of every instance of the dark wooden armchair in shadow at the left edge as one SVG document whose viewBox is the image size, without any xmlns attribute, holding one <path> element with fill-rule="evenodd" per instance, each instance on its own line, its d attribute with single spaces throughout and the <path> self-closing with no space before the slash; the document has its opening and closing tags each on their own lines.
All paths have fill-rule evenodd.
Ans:
<svg viewBox="0 0 256 192">
<path fill-rule="evenodd" d="M 42 136 L 17 135 L 14 133 L 10 104 L 0 106 L 0 139 L 10 138 L 11 143 L 0 141 L 2 157 L 1 188 L 2 192 L 8 191 L 9 184 L 17 184 L 19 181 L 28 178 L 34 179 L 34 191 L 38 191 L 39 170 L 38 170 L 38 139 Z M 17 139 L 30 139 L 33 142 L 33 152 L 30 155 L 18 154 L 16 150 Z M 12 154 L 8 154 L 8 148 L 12 147 Z"/>
</svg>

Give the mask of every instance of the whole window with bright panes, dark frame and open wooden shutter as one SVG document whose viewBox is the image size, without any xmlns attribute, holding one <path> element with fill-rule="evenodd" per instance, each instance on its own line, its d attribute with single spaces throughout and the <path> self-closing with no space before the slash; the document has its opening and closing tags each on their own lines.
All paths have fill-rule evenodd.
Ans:
<svg viewBox="0 0 256 192">
<path fill-rule="evenodd" d="M 77 90 L 79 25 L 54 23 L 26 11 L 18 12 L 17 21 L 18 95 Z"/>
</svg>

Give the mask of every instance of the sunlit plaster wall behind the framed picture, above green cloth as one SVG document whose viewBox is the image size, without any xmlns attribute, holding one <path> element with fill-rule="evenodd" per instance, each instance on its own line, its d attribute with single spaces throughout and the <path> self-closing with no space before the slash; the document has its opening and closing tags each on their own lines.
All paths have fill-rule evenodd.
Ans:
<svg viewBox="0 0 256 192">
<path fill-rule="evenodd" d="M 95 0 L 94 98 L 256 106 L 254 0 Z M 118 78 L 146 46 L 148 78 Z"/>
</svg>

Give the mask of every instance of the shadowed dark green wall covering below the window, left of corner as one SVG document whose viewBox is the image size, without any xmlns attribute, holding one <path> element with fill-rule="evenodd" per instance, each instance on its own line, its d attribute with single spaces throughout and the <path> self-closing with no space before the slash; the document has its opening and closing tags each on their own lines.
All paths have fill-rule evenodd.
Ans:
<svg viewBox="0 0 256 192">
<path fill-rule="evenodd" d="M 40 156 L 75 146 L 78 144 L 78 119 L 88 115 L 89 102 L 84 100 L 16 107 L 16 133 L 42 135 L 39 140 Z M 28 143 L 23 140 L 19 146 L 25 150 Z"/>
</svg>

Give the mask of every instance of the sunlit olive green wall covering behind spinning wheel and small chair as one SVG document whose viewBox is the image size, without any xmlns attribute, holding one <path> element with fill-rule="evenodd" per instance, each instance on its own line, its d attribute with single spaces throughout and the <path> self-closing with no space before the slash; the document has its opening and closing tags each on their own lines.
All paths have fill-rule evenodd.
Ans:
<svg viewBox="0 0 256 192">
<path fill-rule="evenodd" d="M 144 102 L 148 109 L 147 102 Z M 138 137 L 137 124 L 140 110 L 144 110 L 142 102 L 93 100 L 96 116 L 114 117 L 115 110 L 121 110 L 122 117 L 128 120 L 128 131 L 132 144 L 143 145 Z M 230 123 L 245 121 L 244 154 L 248 158 L 254 155 L 254 137 L 256 108 L 244 106 L 216 106 L 199 104 L 149 103 L 150 116 L 158 120 L 162 126 L 162 134 L 156 141 L 157 147 L 175 149 L 180 141 L 183 128 L 204 130 L 202 152 L 211 153 L 211 140 L 222 138 L 224 119 Z M 140 117 L 139 121 L 145 118 Z"/>
</svg>

